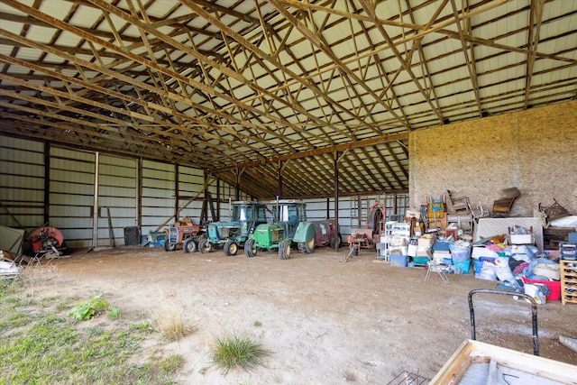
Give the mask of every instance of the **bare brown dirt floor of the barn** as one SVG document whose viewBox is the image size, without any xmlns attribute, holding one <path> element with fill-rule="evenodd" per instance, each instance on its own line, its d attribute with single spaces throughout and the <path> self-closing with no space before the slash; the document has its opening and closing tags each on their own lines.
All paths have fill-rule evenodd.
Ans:
<svg viewBox="0 0 577 385">
<path fill-rule="evenodd" d="M 362 251 L 296 250 L 289 260 L 259 252 L 226 257 L 222 251 L 185 253 L 127 247 L 72 252 L 57 266 L 46 295 L 88 299 L 104 293 L 123 312 L 150 317 L 178 307 L 197 329 L 176 343 L 146 349 L 180 353 L 186 384 L 383 384 L 402 371 L 432 378 L 471 336 L 468 293 L 496 289 L 474 274 L 449 275 L 444 284 L 423 268 L 375 263 Z M 530 306 L 502 295 L 475 295 L 477 339 L 533 353 Z M 538 306 L 540 355 L 577 364 L 577 352 L 558 342 L 577 338 L 577 305 Z M 133 321 L 131 321 L 133 322 Z M 270 351 L 252 371 L 226 375 L 211 364 L 216 337 L 251 336 Z M 146 356 L 146 352 L 142 354 Z"/>
</svg>

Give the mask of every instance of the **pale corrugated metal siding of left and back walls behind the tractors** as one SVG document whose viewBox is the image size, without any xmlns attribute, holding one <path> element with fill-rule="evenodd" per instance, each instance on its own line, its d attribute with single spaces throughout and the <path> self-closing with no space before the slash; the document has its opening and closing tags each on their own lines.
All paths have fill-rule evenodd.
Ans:
<svg viewBox="0 0 577 385">
<path fill-rule="evenodd" d="M 234 186 L 211 181 L 207 190 L 216 211 L 213 216 L 202 191 L 204 171 L 189 166 L 48 147 L 2 135 L 0 150 L 0 225 L 32 232 L 48 223 L 60 229 L 69 248 L 92 247 L 95 234 L 96 247 L 124 245 L 127 227 L 139 227 L 140 243 L 142 236 L 174 223 L 175 215 L 179 219 L 188 216 L 198 224 L 203 208 L 208 221 L 226 221 L 228 202 L 235 200 Z M 242 193 L 239 199 L 251 198 Z M 388 217 L 404 214 L 408 208 L 408 194 L 340 198 L 343 238 L 365 224 L 367 210 L 376 200 L 387 206 Z M 307 200 L 307 216 L 309 220 L 334 217 L 334 199 Z"/>
</svg>

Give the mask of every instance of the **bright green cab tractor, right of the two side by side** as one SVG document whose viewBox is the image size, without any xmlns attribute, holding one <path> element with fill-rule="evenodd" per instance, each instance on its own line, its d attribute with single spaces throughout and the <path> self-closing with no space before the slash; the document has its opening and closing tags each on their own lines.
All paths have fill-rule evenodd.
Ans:
<svg viewBox="0 0 577 385">
<path fill-rule="evenodd" d="M 292 199 L 273 201 L 274 223 L 258 225 L 244 243 L 244 254 L 256 256 L 259 250 L 279 250 L 281 260 L 290 256 L 293 242 L 298 250 L 312 252 L 315 248 L 315 225 L 307 223 L 307 204 Z"/>
</svg>

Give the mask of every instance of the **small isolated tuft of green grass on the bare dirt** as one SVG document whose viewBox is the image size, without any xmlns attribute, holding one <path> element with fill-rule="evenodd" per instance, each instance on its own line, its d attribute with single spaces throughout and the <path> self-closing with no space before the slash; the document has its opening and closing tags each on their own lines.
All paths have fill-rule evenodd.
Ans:
<svg viewBox="0 0 577 385">
<path fill-rule="evenodd" d="M 249 370 L 261 363 L 262 357 L 270 352 L 262 344 L 247 335 L 239 333 L 217 337 L 213 349 L 213 363 L 224 370 L 224 374 L 233 368 Z"/>
</svg>

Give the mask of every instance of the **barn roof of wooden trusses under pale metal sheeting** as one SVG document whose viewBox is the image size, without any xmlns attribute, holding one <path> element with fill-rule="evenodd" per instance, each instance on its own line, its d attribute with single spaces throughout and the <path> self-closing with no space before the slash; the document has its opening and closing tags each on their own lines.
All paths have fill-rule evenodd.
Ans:
<svg viewBox="0 0 577 385">
<path fill-rule="evenodd" d="M 574 99 L 563 0 L 2 0 L 0 130 L 253 197 L 408 191 L 408 133 Z M 282 187 L 279 187 L 279 180 Z"/>
</svg>

